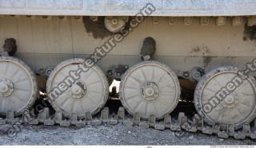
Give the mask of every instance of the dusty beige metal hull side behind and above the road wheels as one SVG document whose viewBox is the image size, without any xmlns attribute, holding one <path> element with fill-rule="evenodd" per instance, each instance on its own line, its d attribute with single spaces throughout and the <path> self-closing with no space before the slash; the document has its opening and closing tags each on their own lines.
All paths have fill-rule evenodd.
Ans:
<svg viewBox="0 0 256 148">
<path fill-rule="evenodd" d="M 158 24 L 155 24 L 156 19 Z M 145 37 L 154 37 L 156 42 L 154 60 L 167 64 L 178 76 L 194 67 L 205 68 L 207 72 L 223 63 L 243 68 L 254 58 L 255 41 L 250 40 L 254 37 L 254 29 L 245 28 L 246 17 L 240 19 L 239 25 L 234 25 L 235 18 L 226 18 L 224 25 L 219 25 L 221 18 L 218 17 L 193 18 L 190 25 L 185 20 L 188 18 L 146 18 L 98 65 L 106 72 L 114 64 L 131 66 L 138 63 Z M 39 68 L 54 67 L 74 56 L 90 56 L 110 37 L 104 25 L 86 21 L 85 26 L 83 21 L 86 20 L 82 17 L 0 16 L 0 42 L 13 37 L 18 46 L 15 56 L 38 72 Z M 3 51 L 2 47 L 0 50 Z"/>
</svg>

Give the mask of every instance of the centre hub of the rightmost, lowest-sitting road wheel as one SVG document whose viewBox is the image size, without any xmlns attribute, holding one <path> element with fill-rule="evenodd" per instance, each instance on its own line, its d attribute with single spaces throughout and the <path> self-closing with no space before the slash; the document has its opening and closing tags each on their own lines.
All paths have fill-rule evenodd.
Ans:
<svg viewBox="0 0 256 148">
<path fill-rule="evenodd" d="M 238 104 L 238 93 L 233 92 L 230 95 L 227 95 L 222 101 L 222 106 L 226 108 L 235 107 Z"/>
</svg>

